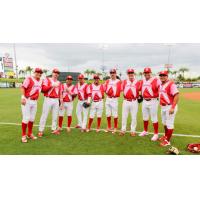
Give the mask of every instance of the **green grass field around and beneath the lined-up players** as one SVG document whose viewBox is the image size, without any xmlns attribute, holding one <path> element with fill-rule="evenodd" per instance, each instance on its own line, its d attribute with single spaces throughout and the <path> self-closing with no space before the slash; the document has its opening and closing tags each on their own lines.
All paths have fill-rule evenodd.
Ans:
<svg viewBox="0 0 200 200">
<path fill-rule="evenodd" d="M 195 92 L 200 89 L 181 89 L 184 92 Z M 0 122 L 21 123 L 20 91 L 19 89 L 0 89 Z M 119 103 L 119 126 L 121 126 L 121 104 Z M 35 124 L 39 123 L 41 116 L 43 97 L 41 95 L 38 103 L 38 112 Z M 76 106 L 76 102 L 74 104 Z M 74 107 L 75 108 L 75 107 Z M 74 109 L 75 111 L 75 109 Z M 200 102 L 190 101 L 184 98 L 180 99 L 179 111 L 175 121 L 175 133 L 200 135 Z M 76 115 L 73 114 L 72 126 L 76 125 Z M 159 112 L 160 118 L 160 112 Z M 159 119 L 160 120 L 160 119 Z M 66 122 L 66 118 L 65 121 Z M 95 121 L 94 121 L 95 122 Z M 49 116 L 47 124 L 51 124 Z M 95 126 L 95 123 L 93 123 Z M 128 121 L 130 127 L 130 118 Z M 141 105 L 138 112 L 137 131 L 142 131 Z M 103 114 L 102 128 L 106 128 L 106 117 Z M 150 127 L 152 131 L 152 126 Z M 34 133 L 38 132 L 38 127 L 34 127 Z M 160 132 L 163 132 L 160 125 Z M 0 124 L 0 154 L 106 154 L 106 155 L 162 155 L 166 154 L 167 148 L 159 146 L 158 142 L 150 141 L 151 135 L 141 137 L 130 137 L 127 134 L 120 137 L 117 134 L 112 135 L 104 132 L 80 133 L 77 129 L 72 129 L 71 134 L 65 131 L 61 135 L 55 136 L 50 133 L 50 128 L 45 129 L 45 137 L 35 141 L 29 141 L 27 144 L 21 143 L 21 127 L 15 125 Z M 200 142 L 200 138 L 178 137 L 172 138 L 172 145 L 179 148 L 181 154 L 190 154 L 186 150 L 188 143 Z"/>
</svg>

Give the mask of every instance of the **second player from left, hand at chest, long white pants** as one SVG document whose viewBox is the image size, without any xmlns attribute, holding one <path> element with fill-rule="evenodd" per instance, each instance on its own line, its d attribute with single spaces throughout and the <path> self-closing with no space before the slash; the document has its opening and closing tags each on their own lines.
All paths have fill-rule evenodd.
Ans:
<svg viewBox="0 0 200 200">
<path fill-rule="evenodd" d="M 38 137 L 43 136 L 45 124 L 49 112 L 52 111 L 52 133 L 55 135 L 60 134 L 59 130 L 56 129 L 58 111 L 59 111 L 59 100 L 62 105 L 62 84 L 58 81 L 59 70 L 53 69 L 51 78 L 46 78 L 42 84 L 42 92 L 44 93 L 44 103 L 42 109 L 42 116 L 40 118 L 39 133 Z"/>
</svg>

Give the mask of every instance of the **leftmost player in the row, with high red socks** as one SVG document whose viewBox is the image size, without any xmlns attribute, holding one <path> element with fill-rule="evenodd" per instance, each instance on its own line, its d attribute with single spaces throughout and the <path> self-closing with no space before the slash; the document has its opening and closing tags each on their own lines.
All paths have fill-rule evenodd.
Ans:
<svg viewBox="0 0 200 200">
<path fill-rule="evenodd" d="M 33 135 L 33 123 L 37 112 L 37 100 L 42 88 L 42 69 L 35 68 L 34 75 L 27 77 L 21 87 L 21 109 L 22 109 L 22 142 L 27 142 L 26 129 L 28 126 L 28 138 L 37 139 Z"/>
</svg>

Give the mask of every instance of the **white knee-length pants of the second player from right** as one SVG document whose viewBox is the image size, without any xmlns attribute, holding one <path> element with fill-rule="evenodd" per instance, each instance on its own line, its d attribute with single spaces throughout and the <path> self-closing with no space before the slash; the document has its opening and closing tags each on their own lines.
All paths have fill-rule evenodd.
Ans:
<svg viewBox="0 0 200 200">
<path fill-rule="evenodd" d="M 157 99 L 151 99 L 151 101 L 143 100 L 142 115 L 144 121 L 148 121 L 151 116 L 152 123 L 158 122 L 158 104 L 159 102 Z"/>
</svg>

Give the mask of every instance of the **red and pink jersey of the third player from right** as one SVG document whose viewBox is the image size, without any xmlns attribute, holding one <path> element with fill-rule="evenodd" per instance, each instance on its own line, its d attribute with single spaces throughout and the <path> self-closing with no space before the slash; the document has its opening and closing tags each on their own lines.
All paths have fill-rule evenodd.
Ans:
<svg viewBox="0 0 200 200">
<path fill-rule="evenodd" d="M 134 100 L 139 96 L 140 82 L 137 80 L 124 80 L 122 82 L 122 91 L 124 98 L 127 100 Z"/>
</svg>

